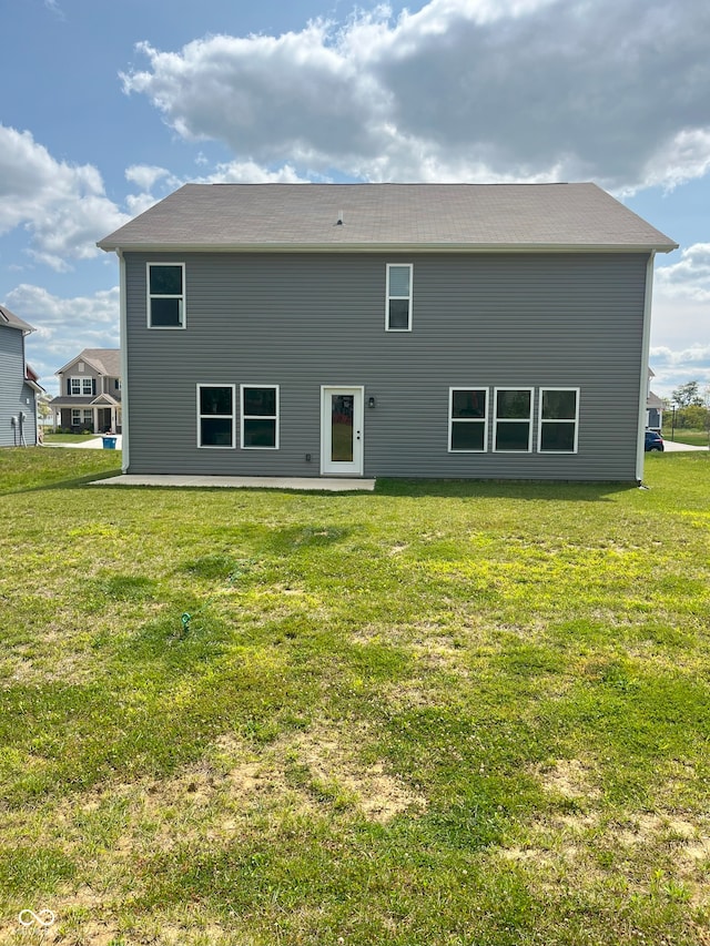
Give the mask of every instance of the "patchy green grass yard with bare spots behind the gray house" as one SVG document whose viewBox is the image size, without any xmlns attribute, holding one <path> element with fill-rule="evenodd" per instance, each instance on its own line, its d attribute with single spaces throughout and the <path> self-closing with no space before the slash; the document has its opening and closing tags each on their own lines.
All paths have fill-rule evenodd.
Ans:
<svg viewBox="0 0 710 946">
<path fill-rule="evenodd" d="M 81 481 L 119 462 L 0 451 L 0 943 L 710 944 L 708 455 Z"/>
</svg>

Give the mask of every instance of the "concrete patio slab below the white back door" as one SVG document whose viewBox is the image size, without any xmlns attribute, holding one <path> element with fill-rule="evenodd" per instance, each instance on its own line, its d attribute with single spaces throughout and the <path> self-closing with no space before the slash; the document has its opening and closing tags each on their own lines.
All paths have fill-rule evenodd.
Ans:
<svg viewBox="0 0 710 946">
<path fill-rule="evenodd" d="M 280 476 L 173 476 L 168 474 L 121 474 L 109 479 L 93 480 L 91 486 L 170 486 L 212 489 L 310 489 L 327 492 L 372 492 L 374 479 L 338 479 L 335 477 L 280 477 Z"/>
</svg>

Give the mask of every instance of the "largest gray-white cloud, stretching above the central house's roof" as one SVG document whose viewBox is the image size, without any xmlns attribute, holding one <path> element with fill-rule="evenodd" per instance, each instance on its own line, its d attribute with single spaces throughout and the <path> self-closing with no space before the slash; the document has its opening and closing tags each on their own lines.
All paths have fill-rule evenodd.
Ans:
<svg viewBox="0 0 710 946">
<path fill-rule="evenodd" d="M 710 169 L 706 0 L 430 0 L 343 27 L 149 43 L 123 75 L 242 164 L 367 180 L 592 177 L 630 193 Z"/>
</svg>

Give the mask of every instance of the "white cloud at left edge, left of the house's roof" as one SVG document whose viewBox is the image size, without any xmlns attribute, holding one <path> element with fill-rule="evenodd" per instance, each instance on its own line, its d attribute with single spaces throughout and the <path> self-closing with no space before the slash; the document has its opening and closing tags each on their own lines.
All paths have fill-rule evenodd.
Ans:
<svg viewBox="0 0 710 946">
<path fill-rule="evenodd" d="M 97 256 L 95 241 L 126 220 L 91 164 L 57 161 L 30 132 L 0 125 L 0 234 L 27 227 L 30 254 L 61 271 Z"/>
</svg>

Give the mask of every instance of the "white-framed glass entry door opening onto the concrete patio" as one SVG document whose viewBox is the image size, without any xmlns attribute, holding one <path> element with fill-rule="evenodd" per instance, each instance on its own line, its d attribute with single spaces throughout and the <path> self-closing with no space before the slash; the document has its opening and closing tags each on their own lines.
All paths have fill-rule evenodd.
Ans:
<svg viewBox="0 0 710 946">
<path fill-rule="evenodd" d="M 321 474 L 363 475 L 363 388 L 321 388 Z"/>
</svg>

